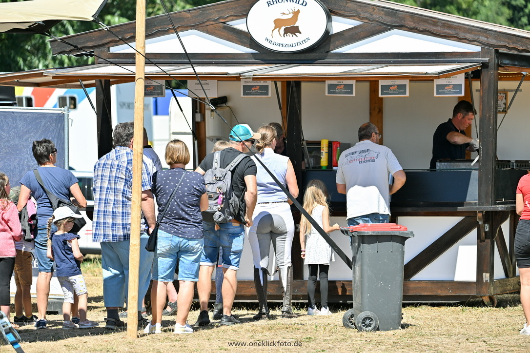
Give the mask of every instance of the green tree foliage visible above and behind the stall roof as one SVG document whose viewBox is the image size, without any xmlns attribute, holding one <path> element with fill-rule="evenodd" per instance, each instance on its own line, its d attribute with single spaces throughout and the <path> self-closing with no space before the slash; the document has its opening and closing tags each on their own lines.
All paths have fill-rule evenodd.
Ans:
<svg viewBox="0 0 530 353">
<path fill-rule="evenodd" d="M 217 0 L 147 0 L 146 16 L 165 13 L 162 1 L 170 12 L 217 2 Z M 528 0 L 394 0 L 394 2 L 530 30 Z M 99 19 L 106 25 L 113 25 L 134 21 L 135 16 L 136 0 L 109 0 L 101 11 Z M 99 25 L 94 22 L 62 21 L 54 26 L 50 33 L 61 37 L 98 28 Z M 2 52 L 0 71 L 65 67 L 93 62 L 92 58 L 87 57 L 52 56 L 48 39 L 45 35 L 0 33 L 0 52 Z"/>
</svg>

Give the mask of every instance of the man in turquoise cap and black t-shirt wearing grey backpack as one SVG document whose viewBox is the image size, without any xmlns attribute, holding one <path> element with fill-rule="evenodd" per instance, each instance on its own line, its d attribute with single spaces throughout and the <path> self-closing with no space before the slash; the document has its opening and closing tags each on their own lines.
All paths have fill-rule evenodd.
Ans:
<svg viewBox="0 0 530 353">
<path fill-rule="evenodd" d="M 220 168 L 226 168 L 238 155 L 248 149 L 261 137 L 261 134 L 252 131 L 249 125 L 240 124 L 234 126 L 230 132 L 230 147 L 220 153 Z M 210 153 L 200 163 L 195 171 L 204 175 L 214 164 L 214 153 Z M 216 224 L 202 220 L 204 229 L 204 248 L 202 250 L 199 282 L 197 293 L 201 312 L 196 325 L 205 326 L 210 323 L 208 315 L 208 300 L 211 292 L 211 274 L 217 264 L 219 247 L 223 248 L 223 316 L 221 324 L 233 325 L 241 323 L 232 315 L 232 304 L 234 303 L 237 288 L 236 271 L 239 268 L 243 241 L 245 238 L 244 227 L 251 227 L 252 213 L 258 200 L 258 187 L 256 173 L 258 169 L 250 157 L 243 158 L 231 171 L 232 190 L 238 200 L 242 200 L 238 214 L 232 222 Z M 244 196 L 244 197 L 243 197 Z"/>
</svg>

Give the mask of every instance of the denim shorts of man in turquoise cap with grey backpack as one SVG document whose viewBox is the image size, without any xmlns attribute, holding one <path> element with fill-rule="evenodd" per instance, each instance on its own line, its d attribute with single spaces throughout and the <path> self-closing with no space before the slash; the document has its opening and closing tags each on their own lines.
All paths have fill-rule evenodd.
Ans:
<svg viewBox="0 0 530 353">
<path fill-rule="evenodd" d="M 223 248 L 223 267 L 237 270 L 243 252 L 245 229 L 242 224 L 221 223 L 220 229 L 215 230 L 215 223 L 202 222 L 204 233 L 204 249 L 200 264 L 215 266 L 219 254 L 219 247 Z"/>
</svg>

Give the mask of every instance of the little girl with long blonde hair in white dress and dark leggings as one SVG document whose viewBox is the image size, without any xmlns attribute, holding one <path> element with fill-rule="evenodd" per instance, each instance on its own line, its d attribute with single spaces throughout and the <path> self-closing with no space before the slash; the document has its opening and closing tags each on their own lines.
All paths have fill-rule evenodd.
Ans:
<svg viewBox="0 0 530 353">
<path fill-rule="evenodd" d="M 307 184 L 304 194 L 304 210 L 320 225 L 324 232 L 339 230 L 339 224 L 330 227 L 328 191 L 321 180 L 313 179 Z M 329 244 L 302 215 L 300 221 L 300 245 L 304 264 L 309 266 L 307 278 L 307 315 L 331 315 L 328 309 L 328 271 L 330 261 L 334 261 L 333 252 Z M 320 271 L 319 271 L 320 268 Z M 320 279 L 321 309 L 315 306 L 316 276 Z"/>
</svg>

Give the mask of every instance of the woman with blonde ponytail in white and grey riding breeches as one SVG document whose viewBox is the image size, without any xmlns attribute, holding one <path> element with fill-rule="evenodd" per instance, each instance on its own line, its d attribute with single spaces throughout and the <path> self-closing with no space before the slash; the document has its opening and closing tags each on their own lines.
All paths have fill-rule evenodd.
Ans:
<svg viewBox="0 0 530 353">
<path fill-rule="evenodd" d="M 258 167 L 256 175 L 258 202 L 252 215 L 252 227 L 246 229 L 254 260 L 254 285 L 260 303 L 260 311 L 254 316 L 254 320 L 270 317 L 267 306 L 267 275 L 270 273 L 271 243 L 276 257 L 276 268 L 271 271 L 272 273 L 278 271 L 284 296 L 281 315 L 282 318 L 296 318 L 297 315 L 293 313 L 291 307 L 293 296 L 291 244 L 295 233 L 293 213 L 291 213 L 289 198 L 257 159 L 267 166 L 294 197 L 298 196 L 298 184 L 293 164 L 289 158 L 274 152 L 277 142 L 276 129 L 265 125 L 258 129 L 258 133 L 261 134 L 261 138 L 255 144 L 258 153 L 252 157 Z"/>
</svg>

